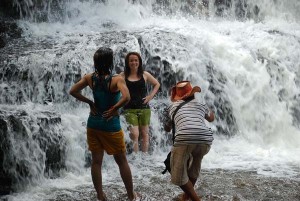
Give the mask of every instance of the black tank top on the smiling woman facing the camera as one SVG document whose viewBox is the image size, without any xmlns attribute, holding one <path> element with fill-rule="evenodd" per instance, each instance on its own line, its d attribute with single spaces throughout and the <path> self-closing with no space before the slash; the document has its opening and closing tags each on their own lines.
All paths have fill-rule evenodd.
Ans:
<svg viewBox="0 0 300 201">
<path fill-rule="evenodd" d="M 148 104 L 143 104 L 143 98 L 147 95 L 147 88 L 144 76 L 137 81 L 125 79 L 130 93 L 130 101 L 124 106 L 124 109 L 144 109 L 150 108 Z"/>
</svg>

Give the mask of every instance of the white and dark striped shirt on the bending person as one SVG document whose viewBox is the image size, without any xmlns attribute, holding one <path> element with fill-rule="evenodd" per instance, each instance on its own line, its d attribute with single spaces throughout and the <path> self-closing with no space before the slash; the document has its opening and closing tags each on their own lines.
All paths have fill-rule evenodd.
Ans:
<svg viewBox="0 0 300 201">
<path fill-rule="evenodd" d="M 183 100 L 171 104 L 165 111 L 165 122 L 171 122 L 174 111 Z M 196 99 L 184 104 L 175 114 L 174 146 L 180 144 L 212 144 L 213 132 L 205 124 L 205 114 L 209 113 L 206 104 Z"/>
</svg>

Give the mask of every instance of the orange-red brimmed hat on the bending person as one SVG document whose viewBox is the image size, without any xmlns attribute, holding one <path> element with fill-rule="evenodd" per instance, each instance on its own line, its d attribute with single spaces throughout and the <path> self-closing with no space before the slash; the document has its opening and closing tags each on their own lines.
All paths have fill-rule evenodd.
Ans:
<svg viewBox="0 0 300 201">
<path fill-rule="evenodd" d="M 199 86 L 192 87 L 190 81 L 178 82 L 174 87 L 172 87 L 171 101 L 175 102 L 187 99 L 188 97 L 193 96 L 196 92 L 201 92 L 201 88 Z"/>
</svg>

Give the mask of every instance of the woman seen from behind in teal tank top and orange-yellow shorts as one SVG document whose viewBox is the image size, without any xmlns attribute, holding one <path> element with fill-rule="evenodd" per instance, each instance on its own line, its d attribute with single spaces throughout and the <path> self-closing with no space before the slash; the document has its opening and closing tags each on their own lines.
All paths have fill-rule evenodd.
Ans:
<svg viewBox="0 0 300 201">
<path fill-rule="evenodd" d="M 131 170 L 126 159 L 124 133 L 121 129 L 118 109 L 130 100 L 130 94 L 121 76 L 112 76 L 113 51 L 100 48 L 94 54 L 95 72 L 86 74 L 74 84 L 70 94 L 89 104 L 90 116 L 87 122 L 87 142 L 92 152 L 91 174 L 97 191 L 97 200 L 105 201 L 102 189 L 102 161 L 104 151 L 113 155 L 119 166 L 121 178 L 125 184 L 130 201 L 137 200 L 133 192 Z M 93 90 L 94 101 L 81 94 L 89 86 Z M 122 96 L 121 96 L 122 95 Z"/>
</svg>

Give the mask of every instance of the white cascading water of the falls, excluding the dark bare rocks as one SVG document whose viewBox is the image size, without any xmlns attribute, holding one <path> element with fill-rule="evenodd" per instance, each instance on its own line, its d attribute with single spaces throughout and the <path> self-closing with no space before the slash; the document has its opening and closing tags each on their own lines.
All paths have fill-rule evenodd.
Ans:
<svg viewBox="0 0 300 201">
<path fill-rule="evenodd" d="M 65 168 L 59 178 L 46 177 L 46 182 L 39 178 L 38 187 L 11 195 L 10 200 L 51 199 L 54 195 L 48 189 L 91 185 L 89 169 L 85 168 L 88 108 L 78 104 L 67 92 L 75 82 L 74 74 L 78 78 L 93 70 L 92 55 L 102 45 L 109 45 L 118 53 L 118 65 L 122 64 L 120 52 L 124 48 L 125 53 L 146 50 L 151 56 L 167 61 L 169 71 L 180 72 L 183 79 L 201 86 L 197 98 L 206 101 L 219 114 L 210 124 L 215 140 L 203 161 L 204 169 L 254 170 L 280 177 L 299 175 L 299 1 L 232 0 L 226 17 L 215 14 L 214 1 L 209 1 L 205 13 L 198 10 L 193 15 L 184 13 L 186 2 L 160 2 L 165 3 L 55 1 L 60 5 L 60 12 L 63 10 L 60 17 L 48 3 L 44 5 L 49 10 L 48 22 L 19 20 L 26 44 L 30 45 L 7 62 L 18 66 L 19 71 L 27 69 L 31 78 L 26 86 L 2 79 L 0 88 L 10 95 L 0 98 L 0 107 L 4 109 L 17 103 L 17 108 L 24 109 L 29 104 L 31 109 L 25 110 L 31 116 L 35 115 L 30 112 L 31 104 L 57 112 L 67 146 Z M 247 3 L 245 12 L 252 16 L 235 19 L 235 8 L 240 2 Z M 202 4 L 202 1 L 194 3 Z M 22 7 L 16 0 L 15 4 Z M 165 10 L 153 11 L 158 7 Z M 259 12 L 253 16 L 255 7 Z M 29 16 L 34 18 L 33 13 Z M 149 59 L 146 55 L 143 58 Z M 16 99 L 16 94 L 22 94 L 21 101 Z M 43 105 L 45 102 L 48 105 Z M 143 178 L 149 186 L 153 181 L 148 178 L 160 177 L 162 161 L 170 147 L 159 119 L 160 106 L 166 102 L 164 96 L 152 101 L 152 137 L 156 142 L 152 145 L 152 155 L 147 160 L 141 155 L 135 156 L 136 159 L 128 156 L 134 179 Z M 122 126 L 126 130 L 124 119 Z M 128 135 L 126 140 L 129 141 Z M 117 174 L 111 176 L 112 171 L 117 168 L 112 158 L 105 156 L 104 183 L 121 183 Z"/>
</svg>

